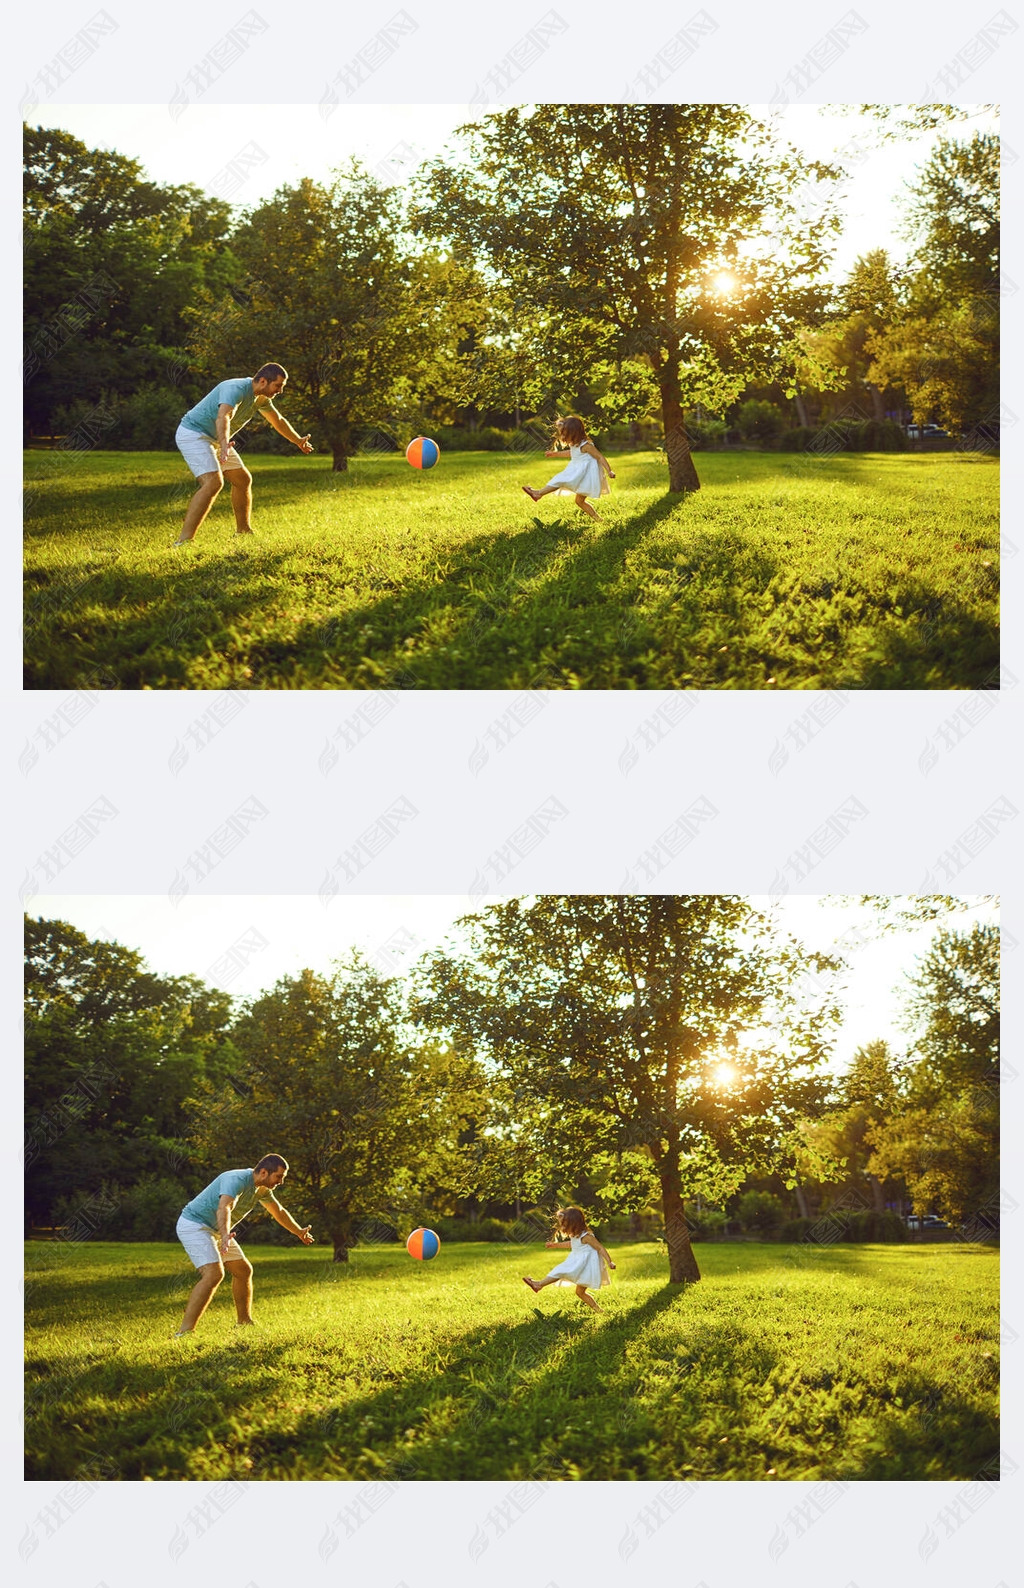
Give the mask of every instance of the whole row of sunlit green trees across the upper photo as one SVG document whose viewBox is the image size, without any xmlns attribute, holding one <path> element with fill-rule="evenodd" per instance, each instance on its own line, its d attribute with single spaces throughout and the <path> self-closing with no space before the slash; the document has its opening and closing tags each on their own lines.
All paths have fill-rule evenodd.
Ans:
<svg viewBox="0 0 1024 1588">
<path fill-rule="evenodd" d="M 902 449 L 911 418 L 994 445 L 999 140 L 945 135 L 908 189 L 907 256 L 821 286 L 841 167 L 762 152 L 751 127 L 732 106 L 541 106 L 525 137 L 508 111 L 464 135 L 462 167 L 398 189 L 352 164 L 243 213 L 25 127 L 25 435 L 171 449 L 216 380 L 279 357 L 291 418 L 338 468 L 418 429 L 537 448 L 559 410 L 619 448 L 683 419 L 695 448 Z M 679 175 L 694 151 L 714 183 Z M 772 218 L 768 273 L 737 249 Z M 714 262 L 745 278 L 735 299 Z M 265 426 L 244 445 L 287 448 Z"/>
</svg>

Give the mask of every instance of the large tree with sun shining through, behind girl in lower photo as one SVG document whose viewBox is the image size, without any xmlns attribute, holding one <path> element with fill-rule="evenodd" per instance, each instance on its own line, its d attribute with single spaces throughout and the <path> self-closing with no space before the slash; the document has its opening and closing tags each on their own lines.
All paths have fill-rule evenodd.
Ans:
<svg viewBox="0 0 1024 1588">
<path fill-rule="evenodd" d="M 600 1161 L 626 1197 L 641 1161 L 670 1278 L 700 1278 L 684 1197 L 719 1202 L 776 1167 L 795 1118 L 821 1107 L 837 1008 L 797 980 L 835 961 L 716 896 L 513 899 L 462 926 L 470 946 L 427 961 L 418 1018 L 518 1088 L 535 1183 L 568 1186 Z"/>
</svg>

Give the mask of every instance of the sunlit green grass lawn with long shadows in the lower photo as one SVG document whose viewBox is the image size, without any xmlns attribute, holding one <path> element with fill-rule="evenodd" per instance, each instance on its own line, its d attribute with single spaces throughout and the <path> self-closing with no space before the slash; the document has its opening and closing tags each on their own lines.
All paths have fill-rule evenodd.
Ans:
<svg viewBox="0 0 1024 1588">
<path fill-rule="evenodd" d="M 430 1264 L 252 1248 L 200 1332 L 171 1245 L 29 1248 L 27 1475 L 945 1478 L 994 1475 L 999 1259 L 978 1247 L 618 1247 L 605 1315 L 537 1299 L 541 1247 Z"/>
</svg>

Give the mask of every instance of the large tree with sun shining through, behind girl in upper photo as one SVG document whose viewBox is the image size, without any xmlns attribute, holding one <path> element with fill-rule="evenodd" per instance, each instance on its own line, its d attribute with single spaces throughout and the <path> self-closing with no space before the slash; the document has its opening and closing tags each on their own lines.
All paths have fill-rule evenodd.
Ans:
<svg viewBox="0 0 1024 1588">
<path fill-rule="evenodd" d="M 838 221 L 827 202 L 802 221 L 797 189 L 838 172 L 735 105 L 537 105 L 462 130 L 464 159 L 429 167 L 418 224 L 522 308 L 527 400 L 597 375 L 599 411 L 632 419 L 654 387 L 668 488 L 699 489 L 683 411 L 770 381 L 821 310 Z"/>
</svg>

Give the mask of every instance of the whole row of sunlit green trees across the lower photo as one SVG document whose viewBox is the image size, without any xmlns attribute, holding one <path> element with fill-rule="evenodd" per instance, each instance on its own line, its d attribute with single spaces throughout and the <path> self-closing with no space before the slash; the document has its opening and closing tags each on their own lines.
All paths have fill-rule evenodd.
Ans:
<svg viewBox="0 0 1024 1588">
<path fill-rule="evenodd" d="M 560 1199 L 670 1251 L 676 1208 L 679 1239 L 907 1239 L 911 1207 L 995 1234 L 997 931 L 943 924 L 907 1048 L 838 1078 L 838 962 L 759 931 L 727 899 L 513 900 L 402 978 L 349 956 L 235 1000 L 25 919 L 29 1228 L 170 1240 L 214 1172 L 283 1151 L 340 1259 L 421 1221 L 535 1239 Z"/>
</svg>

